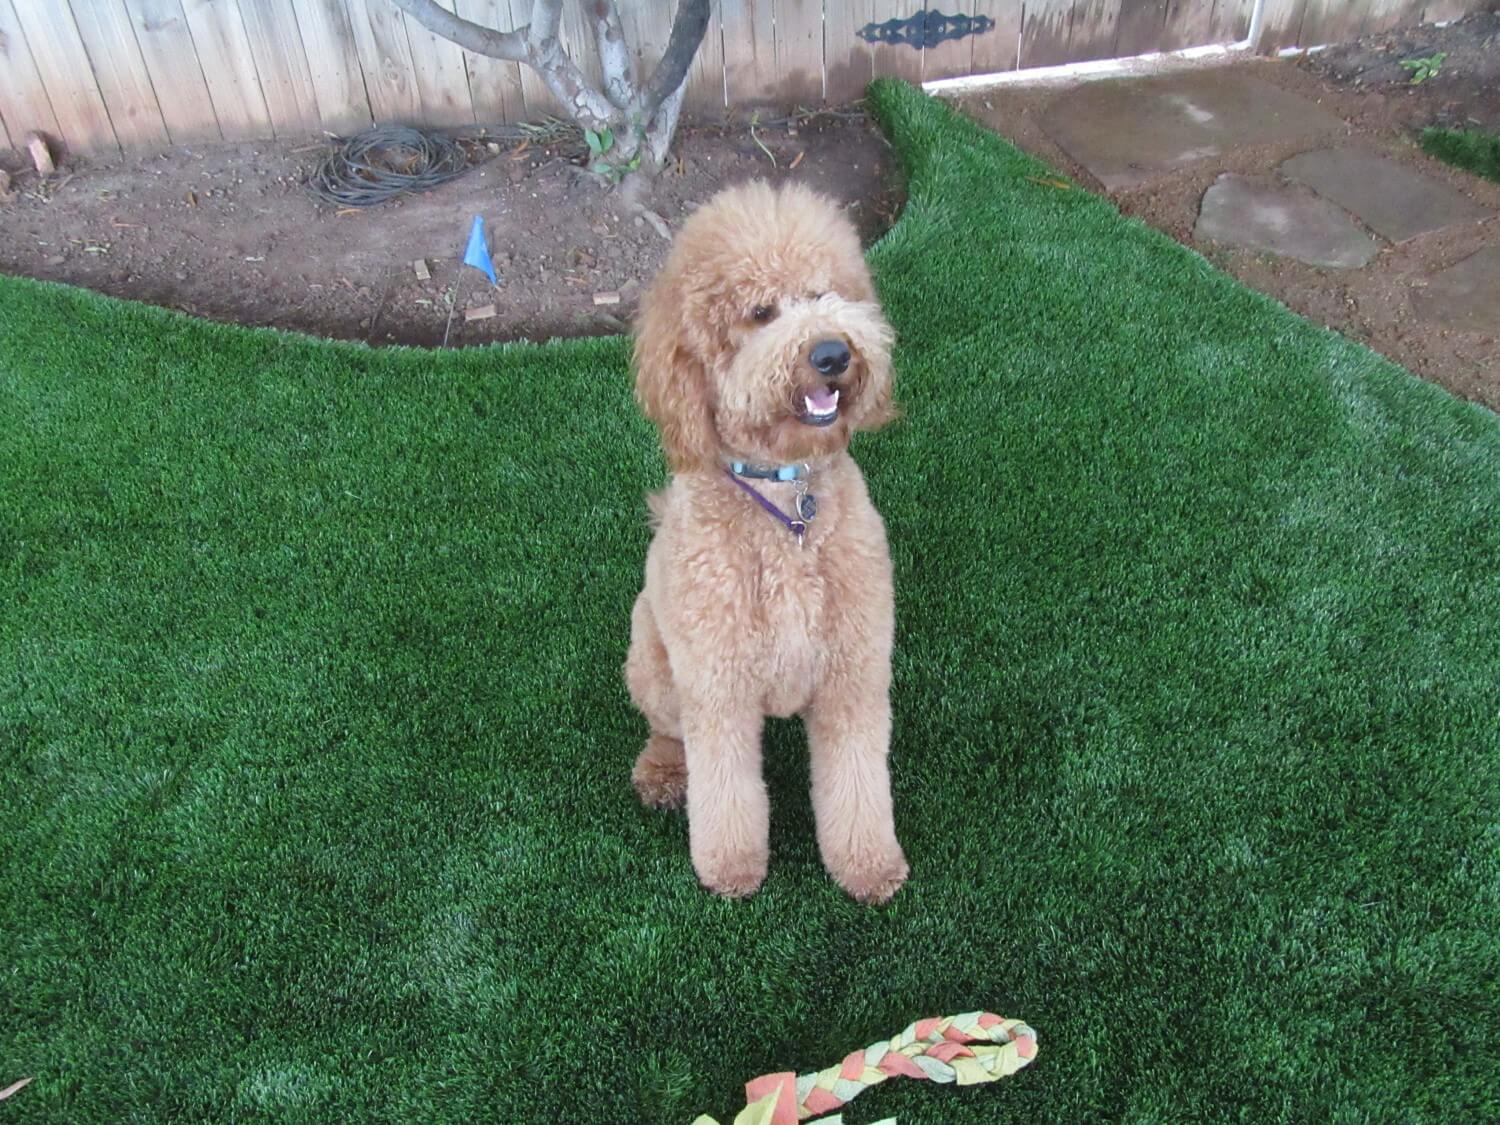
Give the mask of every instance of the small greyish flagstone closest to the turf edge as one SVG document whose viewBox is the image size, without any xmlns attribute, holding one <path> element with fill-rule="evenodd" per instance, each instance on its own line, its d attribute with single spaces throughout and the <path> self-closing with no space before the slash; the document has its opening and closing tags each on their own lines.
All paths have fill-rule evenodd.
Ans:
<svg viewBox="0 0 1500 1125">
<path fill-rule="evenodd" d="M 1359 268 L 1380 252 L 1380 244 L 1328 200 L 1244 176 L 1221 176 L 1203 194 L 1192 237 L 1341 270 Z"/>
</svg>

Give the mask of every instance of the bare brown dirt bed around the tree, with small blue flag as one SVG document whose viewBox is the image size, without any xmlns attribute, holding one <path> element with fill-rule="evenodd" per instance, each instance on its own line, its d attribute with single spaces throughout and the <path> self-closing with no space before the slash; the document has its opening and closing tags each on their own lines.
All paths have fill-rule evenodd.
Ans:
<svg viewBox="0 0 1500 1125">
<path fill-rule="evenodd" d="M 370 344 L 441 344 L 453 297 L 450 345 L 622 332 L 666 240 L 578 172 L 578 140 L 468 147 L 476 166 L 460 178 L 345 213 L 304 188 L 328 148 L 318 141 L 70 159 L 48 180 L 0 153 L 12 174 L 0 272 Z M 828 192 L 870 242 L 902 204 L 892 153 L 856 110 L 753 132 L 748 122 L 686 128 L 676 154 L 644 198 L 674 225 L 752 177 Z M 474 214 L 484 216 L 500 288 L 459 264 Z M 483 304 L 495 316 L 465 321 L 466 308 Z"/>
</svg>

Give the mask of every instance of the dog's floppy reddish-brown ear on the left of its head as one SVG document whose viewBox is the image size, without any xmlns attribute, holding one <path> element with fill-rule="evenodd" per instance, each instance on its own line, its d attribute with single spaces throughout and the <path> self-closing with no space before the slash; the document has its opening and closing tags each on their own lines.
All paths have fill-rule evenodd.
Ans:
<svg viewBox="0 0 1500 1125">
<path fill-rule="evenodd" d="M 636 324 L 636 402 L 662 430 L 674 472 L 712 465 L 718 456 L 708 374 L 687 346 L 682 298 L 670 278 L 658 278 L 640 303 Z"/>
</svg>

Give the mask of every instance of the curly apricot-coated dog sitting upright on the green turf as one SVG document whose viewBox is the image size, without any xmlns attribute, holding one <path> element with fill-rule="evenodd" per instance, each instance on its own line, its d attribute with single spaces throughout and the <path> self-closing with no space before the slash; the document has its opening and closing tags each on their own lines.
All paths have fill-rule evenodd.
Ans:
<svg viewBox="0 0 1500 1125">
<path fill-rule="evenodd" d="M 886 754 L 891 558 L 848 453 L 891 418 L 891 328 L 854 226 L 804 188 L 722 192 L 645 294 L 636 398 L 672 466 L 630 621 L 651 724 L 632 780 L 687 798 L 698 878 L 765 879 L 765 716 L 800 714 L 824 866 L 862 902 L 906 879 Z"/>
</svg>

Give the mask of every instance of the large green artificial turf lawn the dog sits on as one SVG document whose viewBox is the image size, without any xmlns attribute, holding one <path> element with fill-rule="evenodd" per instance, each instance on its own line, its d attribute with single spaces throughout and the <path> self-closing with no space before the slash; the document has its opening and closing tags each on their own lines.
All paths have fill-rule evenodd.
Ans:
<svg viewBox="0 0 1500 1125">
<path fill-rule="evenodd" d="M 686 1122 L 918 1016 L 1040 1030 L 849 1120 L 1500 1112 L 1500 423 L 909 87 L 912 880 L 768 732 L 765 890 L 627 782 L 662 478 L 620 340 L 368 351 L 0 282 L 14 1120 Z"/>
</svg>

